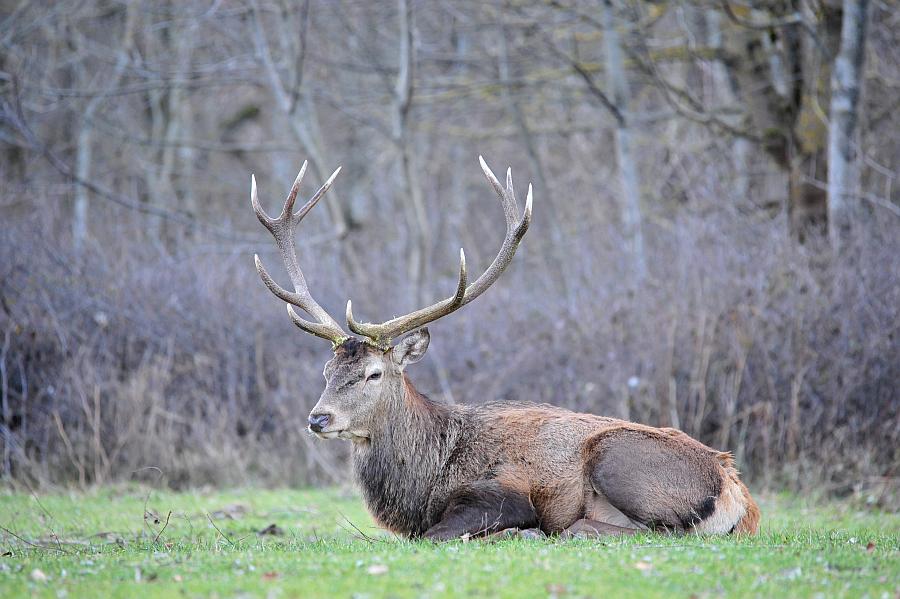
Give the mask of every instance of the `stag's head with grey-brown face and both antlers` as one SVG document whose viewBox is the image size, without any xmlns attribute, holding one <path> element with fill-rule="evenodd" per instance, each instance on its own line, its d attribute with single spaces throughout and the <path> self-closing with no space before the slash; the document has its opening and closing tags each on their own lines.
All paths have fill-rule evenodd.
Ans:
<svg viewBox="0 0 900 599">
<path fill-rule="evenodd" d="M 382 408 L 391 407 L 392 403 L 396 407 L 397 402 L 402 401 L 404 369 L 422 359 L 428 349 L 430 336 L 425 325 L 455 312 L 484 293 L 512 261 L 516 248 L 531 223 L 531 185 L 528 186 L 525 199 L 525 212 L 519 218 L 510 170 L 506 172 L 504 188 L 480 156 L 479 161 L 485 177 L 500 198 L 506 217 L 506 236 L 494 261 L 469 285 L 466 256 L 460 249 L 459 279 L 453 295 L 381 324 L 357 322 L 353 317 L 352 303 L 348 301 L 347 326 L 351 332 L 359 335 L 358 338 L 344 332 L 312 298 L 294 248 L 297 224 L 328 191 L 341 169 L 334 171 L 312 198 L 294 212 L 294 202 L 306 173 L 304 162 L 278 218 L 271 218 L 263 211 L 257 197 L 256 178 L 251 179 L 250 202 L 253 210 L 275 238 L 294 291 L 278 285 L 263 267 L 259 256 L 254 256 L 256 270 L 266 287 L 279 299 L 287 302 L 287 311 L 294 324 L 307 333 L 331 341 L 334 350 L 334 356 L 325 365 L 325 391 L 309 415 L 309 430 L 319 437 L 354 441 L 369 439 L 376 419 L 385 412 Z M 294 307 L 306 312 L 314 321 L 302 318 Z M 410 335 L 394 343 L 395 339 L 410 331 L 413 331 Z"/>
</svg>

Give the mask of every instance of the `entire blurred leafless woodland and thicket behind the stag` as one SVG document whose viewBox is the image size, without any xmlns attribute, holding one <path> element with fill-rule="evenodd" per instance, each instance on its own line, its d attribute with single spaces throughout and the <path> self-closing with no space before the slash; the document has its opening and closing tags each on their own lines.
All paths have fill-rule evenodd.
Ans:
<svg viewBox="0 0 900 599">
<path fill-rule="evenodd" d="M 451 293 L 420 389 L 675 426 L 761 487 L 896 497 L 900 10 L 888 0 L 0 2 L 0 474 L 330 484 L 310 288 L 377 321 Z"/>
</svg>

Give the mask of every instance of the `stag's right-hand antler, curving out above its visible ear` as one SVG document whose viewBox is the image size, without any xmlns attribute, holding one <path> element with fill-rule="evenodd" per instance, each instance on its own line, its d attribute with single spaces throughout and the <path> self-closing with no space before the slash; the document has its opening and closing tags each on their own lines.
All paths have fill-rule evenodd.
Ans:
<svg viewBox="0 0 900 599">
<path fill-rule="evenodd" d="M 350 301 L 347 302 L 347 324 L 350 330 L 358 335 L 368 337 L 378 346 L 387 346 L 391 339 L 402 335 L 405 332 L 417 329 L 421 326 L 434 322 L 442 316 L 446 316 L 451 312 L 459 310 L 490 287 L 496 281 L 503 271 L 509 266 L 519 242 L 528 230 L 531 224 L 531 185 L 528 185 L 528 195 L 525 198 L 525 213 L 522 219 L 518 220 L 519 206 L 516 203 L 516 195 L 513 191 L 512 171 L 506 171 L 506 188 L 500 185 L 497 177 L 488 168 L 484 162 L 484 158 L 478 157 L 481 163 L 481 170 L 484 176 L 497 195 L 500 197 L 500 203 L 503 205 L 503 214 L 506 217 L 506 237 L 503 239 L 503 245 L 497 257 L 487 268 L 484 273 L 474 283 L 466 286 L 466 255 L 462 249 L 459 251 L 459 283 L 456 286 L 456 293 L 452 296 L 437 302 L 426 308 L 421 308 L 415 312 L 411 312 L 404 316 L 398 316 L 381 324 L 372 324 L 368 322 L 357 322 L 353 318 L 353 309 Z"/>
</svg>

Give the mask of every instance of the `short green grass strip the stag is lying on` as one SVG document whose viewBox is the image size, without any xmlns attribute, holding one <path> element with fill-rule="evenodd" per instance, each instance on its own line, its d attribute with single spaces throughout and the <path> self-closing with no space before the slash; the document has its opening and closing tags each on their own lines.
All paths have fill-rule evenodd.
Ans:
<svg viewBox="0 0 900 599">
<path fill-rule="evenodd" d="M 762 534 L 749 539 L 432 545 L 378 531 L 359 499 L 337 490 L 147 493 L 106 488 L 38 502 L 0 491 L 0 597 L 900 593 L 900 516 L 848 504 L 767 498 Z M 146 521 L 145 501 L 155 515 Z M 282 534 L 257 534 L 269 524 Z"/>
</svg>

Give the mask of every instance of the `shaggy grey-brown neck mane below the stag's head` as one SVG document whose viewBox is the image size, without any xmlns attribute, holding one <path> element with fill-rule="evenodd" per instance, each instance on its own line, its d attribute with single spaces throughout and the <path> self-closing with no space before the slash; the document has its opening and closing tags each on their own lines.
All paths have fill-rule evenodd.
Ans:
<svg viewBox="0 0 900 599">
<path fill-rule="evenodd" d="M 353 465 L 376 520 L 398 533 L 420 535 L 428 504 L 453 443 L 448 406 L 422 395 L 404 374 L 386 390 L 369 442 L 356 446 Z"/>
</svg>

